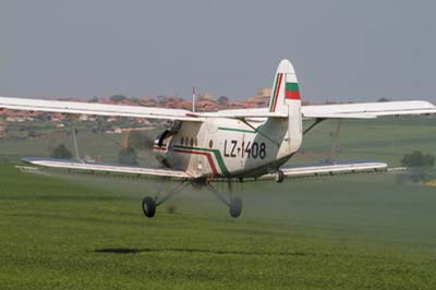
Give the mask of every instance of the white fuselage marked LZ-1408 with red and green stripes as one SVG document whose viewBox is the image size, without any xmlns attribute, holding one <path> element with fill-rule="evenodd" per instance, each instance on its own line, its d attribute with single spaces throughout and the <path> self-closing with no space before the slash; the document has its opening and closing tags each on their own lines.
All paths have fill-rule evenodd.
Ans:
<svg viewBox="0 0 436 290">
<path fill-rule="evenodd" d="M 182 122 L 155 142 L 154 152 L 167 167 L 197 178 L 259 177 L 277 171 L 300 148 L 301 128 L 289 129 L 288 118 Z"/>
</svg>

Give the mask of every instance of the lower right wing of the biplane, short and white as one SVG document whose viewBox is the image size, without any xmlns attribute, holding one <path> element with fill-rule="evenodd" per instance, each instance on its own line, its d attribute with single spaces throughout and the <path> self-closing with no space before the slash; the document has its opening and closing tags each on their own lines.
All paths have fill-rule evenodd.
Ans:
<svg viewBox="0 0 436 290">
<path fill-rule="evenodd" d="M 316 165 L 316 166 L 294 166 L 281 168 L 287 178 L 306 178 L 306 177 L 323 177 L 352 174 L 364 172 L 386 171 L 388 165 L 385 162 L 343 162 L 335 165 Z M 275 174 L 263 176 L 262 179 L 272 179 Z"/>
</svg>

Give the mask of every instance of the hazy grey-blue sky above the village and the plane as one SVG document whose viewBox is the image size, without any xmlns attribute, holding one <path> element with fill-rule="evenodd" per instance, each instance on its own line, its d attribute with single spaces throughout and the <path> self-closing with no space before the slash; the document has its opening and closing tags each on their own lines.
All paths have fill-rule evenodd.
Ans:
<svg viewBox="0 0 436 290">
<path fill-rule="evenodd" d="M 436 101 L 436 1 L 0 0 L 0 95 Z"/>
</svg>

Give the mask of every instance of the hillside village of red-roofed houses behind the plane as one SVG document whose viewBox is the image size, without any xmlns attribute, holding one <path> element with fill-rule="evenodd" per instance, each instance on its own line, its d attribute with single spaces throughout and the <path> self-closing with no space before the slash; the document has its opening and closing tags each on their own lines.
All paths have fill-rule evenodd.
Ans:
<svg viewBox="0 0 436 290">
<path fill-rule="evenodd" d="M 231 100 L 226 96 L 215 97 L 209 93 L 198 94 L 195 96 L 195 110 L 199 112 L 205 111 L 218 111 L 226 109 L 249 109 L 249 108 L 264 108 L 268 107 L 271 95 L 271 88 L 259 88 L 256 94 L 245 100 Z M 51 98 L 58 99 L 58 98 Z M 174 96 L 157 96 L 157 97 L 126 97 L 123 95 L 113 95 L 109 98 L 59 98 L 59 100 L 71 100 L 71 101 L 83 101 L 83 102 L 98 102 L 106 105 L 123 105 L 123 106 L 144 106 L 144 107 L 157 107 L 157 108 L 173 108 L 173 109 L 185 109 L 192 110 L 192 99 L 174 97 Z M 310 102 L 303 101 L 303 105 Z M 98 129 L 94 131 L 102 131 L 101 133 L 107 134 L 120 134 L 130 130 L 146 129 L 153 126 L 156 121 L 149 121 L 146 119 L 132 119 L 125 121 L 124 118 L 102 118 L 95 116 L 77 116 L 74 119 L 75 122 L 96 122 Z M 60 132 L 35 132 L 34 124 L 49 122 L 52 126 L 59 129 Z M 0 138 L 8 140 L 22 140 L 22 138 L 36 138 L 44 137 L 46 135 L 52 136 L 64 135 L 68 130 L 63 130 L 70 126 L 71 117 L 64 113 L 47 113 L 37 111 L 14 111 L 3 109 L 0 110 Z M 13 126 L 19 129 L 20 132 L 26 132 L 24 134 L 8 134 L 9 129 Z M 33 128 L 33 129 L 32 129 Z"/>
</svg>

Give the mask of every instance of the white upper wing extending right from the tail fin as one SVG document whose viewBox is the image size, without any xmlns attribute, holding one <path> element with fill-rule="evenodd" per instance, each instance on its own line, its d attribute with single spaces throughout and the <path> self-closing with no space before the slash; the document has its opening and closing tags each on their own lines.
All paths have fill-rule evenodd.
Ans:
<svg viewBox="0 0 436 290">
<path fill-rule="evenodd" d="M 431 114 L 436 113 L 436 107 L 423 100 L 380 101 L 303 106 L 301 112 L 303 118 L 308 119 L 367 119 L 383 116 Z"/>
</svg>

